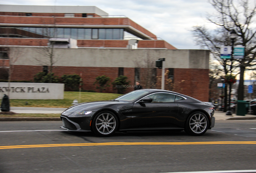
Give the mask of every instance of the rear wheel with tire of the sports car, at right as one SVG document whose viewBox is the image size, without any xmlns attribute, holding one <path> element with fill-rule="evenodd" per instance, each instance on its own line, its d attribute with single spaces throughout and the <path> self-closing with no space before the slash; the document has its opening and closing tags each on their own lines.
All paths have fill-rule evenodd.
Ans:
<svg viewBox="0 0 256 173">
<path fill-rule="evenodd" d="M 203 135 L 209 127 L 209 120 L 202 112 L 192 113 L 185 124 L 185 132 L 189 135 Z"/>
</svg>

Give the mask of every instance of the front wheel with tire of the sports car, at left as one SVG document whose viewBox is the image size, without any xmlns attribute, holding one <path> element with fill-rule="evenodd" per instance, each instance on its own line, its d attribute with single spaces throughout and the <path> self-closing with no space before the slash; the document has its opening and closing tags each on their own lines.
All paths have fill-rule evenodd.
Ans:
<svg viewBox="0 0 256 173">
<path fill-rule="evenodd" d="M 92 131 L 97 136 L 109 137 L 113 135 L 118 128 L 118 119 L 110 111 L 98 113 L 93 119 Z"/>
</svg>

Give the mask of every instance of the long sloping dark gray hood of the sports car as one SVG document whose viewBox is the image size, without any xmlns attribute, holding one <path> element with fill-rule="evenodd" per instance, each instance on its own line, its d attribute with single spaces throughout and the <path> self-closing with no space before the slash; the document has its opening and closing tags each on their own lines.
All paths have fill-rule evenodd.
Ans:
<svg viewBox="0 0 256 173">
<path fill-rule="evenodd" d="M 74 105 L 72 107 L 69 107 L 66 109 L 66 112 L 69 113 L 76 113 L 79 111 L 98 111 L 101 108 L 105 107 L 111 107 L 116 104 L 124 104 L 126 102 L 119 102 L 119 101 L 94 101 L 94 102 L 86 102 L 86 103 L 80 103 L 78 105 Z"/>
</svg>

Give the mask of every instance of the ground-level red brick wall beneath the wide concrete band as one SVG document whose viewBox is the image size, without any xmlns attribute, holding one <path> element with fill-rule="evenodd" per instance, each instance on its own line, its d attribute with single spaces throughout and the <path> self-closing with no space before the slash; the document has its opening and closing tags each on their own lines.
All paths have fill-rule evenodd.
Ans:
<svg viewBox="0 0 256 173">
<path fill-rule="evenodd" d="M 167 68 L 166 68 L 167 70 Z M 42 66 L 25 66 L 25 65 L 14 65 L 11 80 L 33 80 L 33 76 L 38 72 L 42 72 Z M 83 78 L 83 89 L 84 90 L 95 90 L 96 85 L 95 78 L 97 76 L 106 75 L 111 78 L 113 82 L 118 77 L 118 67 L 70 67 L 70 66 L 56 66 L 53 72 L 57 76 L 64 74 L 78 74 L 82 72 Z M 130 85 L 134 85 L 134 68 L 124 68 L 124 76 L 128 77 Z M 157 69 L 157 76 L 161 76 L 161 69 Z M 113 89 L 110 82 L 110 87 L 104 91 L 105 93 L 117 93 Z M 161 89 L 161 79 L 158 89 Z M 174 69 L 174 89 L 173 91 L 194 97 L 200 101 L 209 100 L 209 70 L 208 69 L 187 69 L 187 68 L 175 68 Z M 142 83 L 143 87 L 143 83 Z M 134 88 L 126 89 L 126 93 L 133 91 Z"/>
</svg>

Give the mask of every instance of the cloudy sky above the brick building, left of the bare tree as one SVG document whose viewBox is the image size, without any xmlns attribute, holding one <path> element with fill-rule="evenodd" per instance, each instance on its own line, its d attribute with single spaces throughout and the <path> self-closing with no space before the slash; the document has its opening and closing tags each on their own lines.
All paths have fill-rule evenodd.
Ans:
<svg viewBox="0 0 256 173">
<path fill-rule="evenodd" d="M 109 15 L 124 15 L 178 49 L 200 49 L 192 27 L 210 25 L 208 0 L 0 0 L 9 5 L 97 6 Z"/>
</svg>

